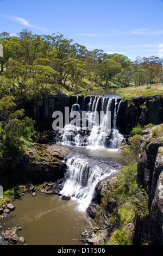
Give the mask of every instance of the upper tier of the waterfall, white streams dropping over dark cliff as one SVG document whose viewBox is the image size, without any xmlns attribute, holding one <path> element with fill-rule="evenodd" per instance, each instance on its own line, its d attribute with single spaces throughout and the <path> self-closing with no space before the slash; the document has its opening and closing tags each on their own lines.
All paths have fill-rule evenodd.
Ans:
<svg viewBox="0 0 163 256">
<path fill-rule="evenodd" d="M 78 147 L 93 147 L 94 149 L 117 149 L 118 145 L 123 141 L 123 136 L 116 127 L 119 106 L 120 98 L 118 99 L 118 97 L 85 96 L 82 106 L 79 105 L 77 97 L 76 103 L 71 107 L 71 112 L 78 111 L 81 116 L 82 112 L 86 111 L 87 123 L 92 124 L 92 129 L 83 130 L 82 127 L 74 127 L 70 123 L 58 132 L 55 142 Z M 98 113 L 100 112 L 103 112 L 103 115 L 100 117 L 100 123 L 97 123 Z M 106 125 L 110 118 L 109 112 L 111 112 L 112 119 L 111 134 L 108 133 Z"/>
</svg>

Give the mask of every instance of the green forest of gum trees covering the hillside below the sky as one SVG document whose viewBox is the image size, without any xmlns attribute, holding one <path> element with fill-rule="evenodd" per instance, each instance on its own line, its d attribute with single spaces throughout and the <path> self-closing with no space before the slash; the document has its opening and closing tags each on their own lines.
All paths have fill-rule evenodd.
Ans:
<svg viewBox="0 0 163 256">
<path fill-rule="evenodd" d="M 23 29 L 17 36 L 0 34 L 0 97 L 36 100 L 56 93 L 70 95 L 98 88 L 139 87 L 163 82 L 163 59 L 103 50 L 88 51 L 64 35 L 37 35 Z"/>
</svg>

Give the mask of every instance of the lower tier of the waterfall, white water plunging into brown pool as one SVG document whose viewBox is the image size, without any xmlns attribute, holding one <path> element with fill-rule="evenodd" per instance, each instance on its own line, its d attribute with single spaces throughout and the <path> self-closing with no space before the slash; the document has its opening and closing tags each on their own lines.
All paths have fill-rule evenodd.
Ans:
<svg viewBox="0 0 163 256">
<path fill-rule="evenodd" d="M 90 164 L 88 159 L 79 155 L 70 157 L 66 163 L 67 179 L 60 193 L 78 199 L 79 209 L 85 211 L 91 203 L 97 182 L 117 170 L 103 163 Z"/>
</svg>

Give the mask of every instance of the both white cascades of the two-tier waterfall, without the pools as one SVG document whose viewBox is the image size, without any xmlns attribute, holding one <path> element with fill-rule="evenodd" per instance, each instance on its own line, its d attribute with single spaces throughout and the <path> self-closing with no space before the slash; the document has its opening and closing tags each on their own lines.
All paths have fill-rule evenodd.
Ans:
<svg viewBox="0 0 163 256">
<path fill-rule="evenodd" d="M 80 107 L 77 97 L 76 103 L 71 107 L 71 112 L 79 111 L 81 114 L 82 111 L 86 111 L 86 119 L 92 123 L 92 129 L 82 130 L 82 127 L 71 125 L 70 122 L 59 131 L 55 142 L 77 147 L 85 146 L 84 148 L 93 150 L 106 149 L 108 146 L 111 149 L 117 149 L 123 140 L 123 136 L 116 127 L 119 102 L 117 97 L 86 96 Z M 100 111 L 103 111 L 103 115 L 99 124 L 96 123 L 96 115 Z M 106 126 L 109 118 L 108 112 L 111 113 L 113 119 L 109 136 Z M 95 158 L 89 160 L 85 155 L 76 155 L 76 153 L 68 158 L 66 164 L 66 182 L 61 193 L 78 199 L 80 210 L 86 210 L 91 203 L 97 182 L 117 172 L 117 169 L 111 165 L 96 161 Z"/>
</svg>

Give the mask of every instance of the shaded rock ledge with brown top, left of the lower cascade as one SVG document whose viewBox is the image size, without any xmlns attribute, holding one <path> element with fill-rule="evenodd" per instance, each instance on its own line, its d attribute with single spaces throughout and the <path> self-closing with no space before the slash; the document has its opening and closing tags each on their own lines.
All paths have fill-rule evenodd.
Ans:
<svg viewBox="0 0 163 256">
<path fill-rule="evenodd" d="M 24 154 L 5 157 L 0 161 L 3 188 L 32 181 L 39 184 L 57 181 L 65 176 L 67 166 L 62 160 L 68 150 L 58 145 L 36 144 Z"/>
</svg>

